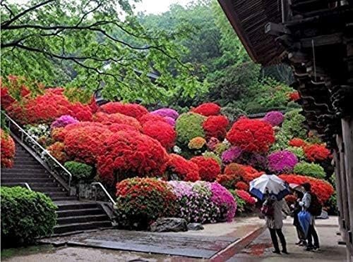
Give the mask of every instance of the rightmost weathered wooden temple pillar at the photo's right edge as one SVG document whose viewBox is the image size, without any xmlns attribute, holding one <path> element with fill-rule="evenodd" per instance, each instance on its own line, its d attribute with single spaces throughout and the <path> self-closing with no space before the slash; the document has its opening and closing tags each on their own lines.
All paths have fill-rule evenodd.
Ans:
<svg viewBox="0 0 353 262">
<path fill-rule="evenodd" d="M 353 255 L 353 119 L 342 119 L 342 139 L 345 155 L 345 175 L 347 182 L 347 202 L 349 216 L 349 230 L 347 248 Z"/>
</svg>

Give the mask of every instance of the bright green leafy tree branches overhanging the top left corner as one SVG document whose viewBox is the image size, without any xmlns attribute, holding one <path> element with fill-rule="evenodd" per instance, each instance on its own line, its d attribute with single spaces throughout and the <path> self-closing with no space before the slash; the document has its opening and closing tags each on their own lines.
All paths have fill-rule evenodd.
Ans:
<svg viewBox="0 0 353 262">
<path fill-rule="evenodd" d="M 1 75 L 84 87 L 87 94 L 102 87 L 106 99 L 145 104 L 205 91 L 193 66 L 181 61 L 186 48 L 174 41 L 186 30 L 147 30 L 131 2 L 2 1 Z M 159 76 L 155 82 L 150 73 Z"/>
</svg>

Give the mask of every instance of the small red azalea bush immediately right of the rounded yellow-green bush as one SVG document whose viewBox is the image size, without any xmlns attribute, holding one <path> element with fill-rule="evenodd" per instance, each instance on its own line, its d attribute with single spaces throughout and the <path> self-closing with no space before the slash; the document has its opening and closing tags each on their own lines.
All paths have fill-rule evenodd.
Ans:
<svg viewBox="0 0 353 262">
<path fill-rule="evenodd" d="M 217 139 L 223 140 L 227 134 L 228 125 L 229 120 L 225 116 L 209 116 L 203 122 L 202 126 L 208 139 L 216 137 Z"/>
</svg>

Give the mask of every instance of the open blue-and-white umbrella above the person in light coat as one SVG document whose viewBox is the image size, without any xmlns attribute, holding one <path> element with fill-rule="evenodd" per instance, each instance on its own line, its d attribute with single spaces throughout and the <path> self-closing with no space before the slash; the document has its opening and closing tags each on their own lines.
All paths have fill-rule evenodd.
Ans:
<svg viewBox="0 0 353 262">
<path fill-rule="evenodd" d="M 266 194 L 271 194 L 277 197 L 278 200 L 290 194 L 289 185 L 277 175 L 261 175 L 250 182 L 250 193 L 265 199 Z"/>
</svg>

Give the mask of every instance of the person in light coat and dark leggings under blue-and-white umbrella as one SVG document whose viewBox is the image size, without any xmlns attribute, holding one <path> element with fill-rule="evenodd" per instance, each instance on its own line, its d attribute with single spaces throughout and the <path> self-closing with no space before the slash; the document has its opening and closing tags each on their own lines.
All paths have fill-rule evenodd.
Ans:
<svg viewBox="0 0 353 262">
<path fill-rule="evenodd" d="M 283 199 L 278 201 L 275 196 L 268 196 L 265 202 L 263 203 L 263 207 L 261 208 L 261 213 L 265 215 L 266 226 L 268 227 L 268 230 L 270 230 L 273 247 L 275 248 L 275 250 L 273 250 L 273 253 L 275 254 L 280 254 L 280 247 L 278 245 L 277 236 L 280 237 L 280 242 L 282 244 L 282 253 L 288 254 L 285 236 L 282 233 L 282 211 L 284 211 L 286 215 L 288 215 L 290 212 L 286 201 Z"/>
</svg>

